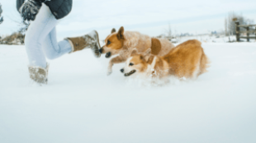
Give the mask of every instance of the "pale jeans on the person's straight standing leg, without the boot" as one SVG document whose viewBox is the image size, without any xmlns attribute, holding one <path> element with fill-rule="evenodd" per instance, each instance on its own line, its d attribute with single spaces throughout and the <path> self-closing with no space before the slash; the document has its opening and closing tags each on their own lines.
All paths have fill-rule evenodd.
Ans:
<svg viewBox="0 0 256 143">
<path fill-rule="evenodd" d="M 25 46 L 30 66 L 47 67 L 42 44 L 45 37 L 50 34 L 50 31 L 55 28 L 57 23 L 58 21 L 50 12 L 49 7 L 43 4 L 36 16 L 36 20 L 31 21 L 31 25 L 29 25 L 26 31 Z"/>
</svg>

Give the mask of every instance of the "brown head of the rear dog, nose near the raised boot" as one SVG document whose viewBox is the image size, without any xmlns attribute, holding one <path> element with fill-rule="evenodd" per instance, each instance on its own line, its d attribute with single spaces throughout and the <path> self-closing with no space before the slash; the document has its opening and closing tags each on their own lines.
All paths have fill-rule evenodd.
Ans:
<svg viewBox="0 0 256 143">
<path fill-rule="evenodd" d="M 100 53 L 107 53 L 106 58 L 119 53 L 125 42 L 124 32 L 124 27 L 121 27 L 118 32 L 112 29 L 111 35 L 108 35 L 105 39 L 105 45 L 100 49 Z"/>
</svg>

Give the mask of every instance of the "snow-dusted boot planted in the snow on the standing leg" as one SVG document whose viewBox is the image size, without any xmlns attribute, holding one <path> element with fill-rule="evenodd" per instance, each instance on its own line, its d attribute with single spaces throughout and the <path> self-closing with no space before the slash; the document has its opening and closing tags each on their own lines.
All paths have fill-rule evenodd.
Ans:
<svg viewBox="0 0 256 143">
<path fill-rule="evenodd" d="M 32 67 L 32 66 L 28 67 L 31 80 L 36 81 L 37 83 L 40 83 L 40 84 L 47 84 L 48 69 L 49 69 L 49 64 L 47 64 L 46 68 Z"/>
</svg>

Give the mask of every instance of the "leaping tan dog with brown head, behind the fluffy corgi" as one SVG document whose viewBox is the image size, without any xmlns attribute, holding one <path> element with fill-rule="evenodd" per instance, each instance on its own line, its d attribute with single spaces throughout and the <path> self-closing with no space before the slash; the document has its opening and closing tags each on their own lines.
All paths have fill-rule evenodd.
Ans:
<svg viewBox="0 0 256 143">
<path fill-rule="evenodd" d="M 139 32 L 125 31 L 124 27 L 121 27 L 118 32 L 112 29 L 111 35 L 107 36 L 105 45 L 100 49 L 100 53 L 107 53 L 106 58 L 119 54 L 109 62 L 107 75 L 111 74 L 113 64 L 126 62 L 133 48 L 137 48 L 140 53 L 150 48 L 152 54 L 164 56 L 174 48 L 174 45 L 168 39 L 150 38 L 148 35 L 142 35 Z"/>
</svg>

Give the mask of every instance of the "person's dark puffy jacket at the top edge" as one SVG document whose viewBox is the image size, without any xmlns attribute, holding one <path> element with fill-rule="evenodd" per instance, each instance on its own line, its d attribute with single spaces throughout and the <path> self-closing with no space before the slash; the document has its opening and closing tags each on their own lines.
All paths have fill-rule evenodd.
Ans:
<svg viewBox="0 0 256 143">
<path fill-rule="evenodd" d="M 17 0 L 18 11 L 24 1 L 25 0 Z M 69 12 L 72 10 L 72 3 L 73 0 L 51 0 L 45 2 L 57 20 L 63 18 L 64 16 L 68 16 Z"/>
</svg>

